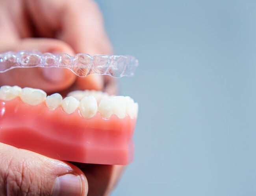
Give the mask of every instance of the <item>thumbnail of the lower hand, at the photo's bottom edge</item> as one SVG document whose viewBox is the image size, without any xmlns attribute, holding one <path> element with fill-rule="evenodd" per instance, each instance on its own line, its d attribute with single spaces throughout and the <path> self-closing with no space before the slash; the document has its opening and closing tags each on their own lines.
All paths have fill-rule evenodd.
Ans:
<svg viewBox="0 0 256 196">
<path fill-rule="evenodd" d="M 53 196 L 81 196 L 82 180 L 80 176 L 65 174 L 55 181 Z"/>
</svg>

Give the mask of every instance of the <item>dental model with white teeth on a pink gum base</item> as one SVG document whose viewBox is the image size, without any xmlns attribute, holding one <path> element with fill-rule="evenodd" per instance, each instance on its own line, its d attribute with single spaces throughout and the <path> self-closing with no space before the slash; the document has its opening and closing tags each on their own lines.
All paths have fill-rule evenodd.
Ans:
<svg viewBox="0 0 256 196">
<path fill-rule="evenodd" d="M 59 93 L 5 85 L 0 87 L 0 142 L 58 160 L 126 165 L 133 160 L 137 112 L 129 96 L 85 90 L 63 99 Z"/>
</svg>

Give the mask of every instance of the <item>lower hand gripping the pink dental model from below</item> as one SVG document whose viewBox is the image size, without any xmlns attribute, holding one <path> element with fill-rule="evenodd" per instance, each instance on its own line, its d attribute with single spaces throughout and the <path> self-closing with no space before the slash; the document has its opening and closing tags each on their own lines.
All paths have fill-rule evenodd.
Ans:
<svg viewBox="0 0 256 196">
<path fill-rule="evenodd" d="M 0 143 L 0 195 L 108 195 L 123 168 L 73 164 Z"/>
</svg>

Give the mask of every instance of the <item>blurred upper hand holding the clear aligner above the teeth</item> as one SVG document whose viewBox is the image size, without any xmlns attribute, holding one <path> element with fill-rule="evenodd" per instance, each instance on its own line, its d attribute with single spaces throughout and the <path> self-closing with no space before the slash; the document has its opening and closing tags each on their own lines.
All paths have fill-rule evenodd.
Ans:
<svg viewBox="0 0 256 196">
<path fill-rule="evenodd" d="M 101 13 L 92 0 L 0 0 L 0 52 L 38 49 L 42 53 L 111 54 Z M 30 80 L 24 80 L 30 78 Z M 32 82 L 33 81 L 33 82 Z M 111 77 L 76 77 L 69 70 L 38 67 L 13 69 L 1 74 L 0 85 L 35 87 L 47 92 L 82 89 L 116 93 Z"/>
</svg>

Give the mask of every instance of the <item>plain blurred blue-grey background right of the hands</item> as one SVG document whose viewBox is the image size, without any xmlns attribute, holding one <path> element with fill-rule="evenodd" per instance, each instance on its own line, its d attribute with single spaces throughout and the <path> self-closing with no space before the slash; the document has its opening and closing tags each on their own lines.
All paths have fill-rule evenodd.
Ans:
<svg viewBox="0 0 256 196">
<path fill-rule="evenodd" d="M 134 162 L 112 196 L 256 195 L 256 2 L 97 0 L 139 103 Z"/>
</svg>

